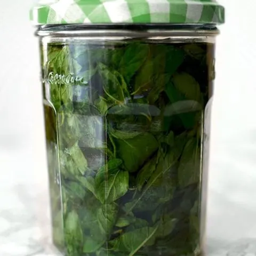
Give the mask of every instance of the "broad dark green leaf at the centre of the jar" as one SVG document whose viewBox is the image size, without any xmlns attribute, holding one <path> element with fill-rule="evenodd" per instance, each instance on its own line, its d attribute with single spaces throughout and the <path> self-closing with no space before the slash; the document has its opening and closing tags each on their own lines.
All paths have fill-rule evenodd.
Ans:
<svg viewBox="0 0 256 256">
<path fill-rule="evenodd" d="M 157 149 L 158 142 L 150 133 L 132 139 L 116 140 L 117 152 L 129 172 L 136 172 Z"/>
</svg>

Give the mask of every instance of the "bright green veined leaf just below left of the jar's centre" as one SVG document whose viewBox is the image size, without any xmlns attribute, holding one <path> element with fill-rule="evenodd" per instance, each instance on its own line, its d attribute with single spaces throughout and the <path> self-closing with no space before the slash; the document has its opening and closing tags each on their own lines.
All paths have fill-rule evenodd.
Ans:
<svg viewBox="0 0 256 256">
<path fill-rule="evenodd" d="M 111 203 L 124 196 L 129 189 L 129 173 L 117 171 L 95 178 L 97 198 L 101 203 Z"/>
</svg>

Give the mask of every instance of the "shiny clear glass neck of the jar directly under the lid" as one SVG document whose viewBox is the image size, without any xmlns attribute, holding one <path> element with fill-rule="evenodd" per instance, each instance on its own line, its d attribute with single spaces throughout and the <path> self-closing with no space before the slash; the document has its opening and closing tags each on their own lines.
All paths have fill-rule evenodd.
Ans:
<svg viewBox="0 0 256 256">
<path fill-rule="evenodd" d="M 109 24 L 109 25 L 43 25 L 38 36 L 127 36 L 141 38 L 148 36 L 217 36 L 219 30 L 212 24 Z"/>
</svg>

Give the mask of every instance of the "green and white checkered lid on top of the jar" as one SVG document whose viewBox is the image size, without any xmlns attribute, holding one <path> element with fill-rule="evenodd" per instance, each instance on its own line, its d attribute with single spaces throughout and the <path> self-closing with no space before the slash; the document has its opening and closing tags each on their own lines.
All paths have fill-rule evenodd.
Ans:
<svg viewBox="0 0 256 256">
<path fill-rule="evenodd" d="M 39 0 L 30 19 L 35 25 L 221 24 L 225 11 L 215 0 Z"/>
</svg>

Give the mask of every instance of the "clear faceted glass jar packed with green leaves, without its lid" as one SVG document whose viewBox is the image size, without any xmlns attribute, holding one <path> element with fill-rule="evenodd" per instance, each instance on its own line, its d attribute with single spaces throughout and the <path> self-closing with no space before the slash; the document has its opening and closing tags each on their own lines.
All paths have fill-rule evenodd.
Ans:
<svg viewBox="0 0 256 256">
<path fill-rule="evenodd" d="M 203 255 L 204 110 L 218 34 L 216 22 L 39 25 L 63 255 Z"/>
</svg>

